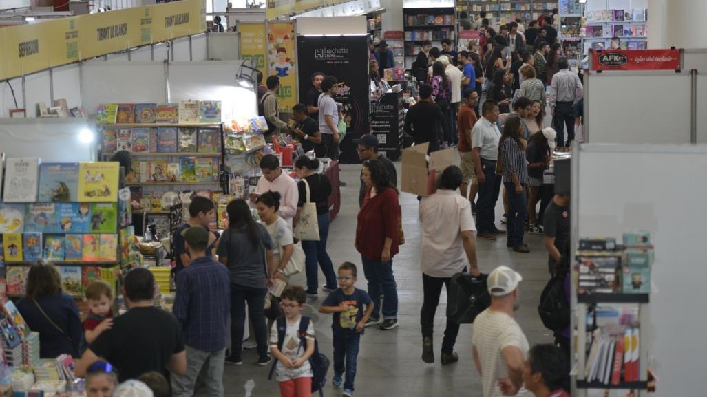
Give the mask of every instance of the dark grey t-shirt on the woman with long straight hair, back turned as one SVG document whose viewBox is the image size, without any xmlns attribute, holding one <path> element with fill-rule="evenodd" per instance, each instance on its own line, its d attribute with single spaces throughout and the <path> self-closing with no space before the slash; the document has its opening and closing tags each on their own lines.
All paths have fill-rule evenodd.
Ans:
<svg viewBox="0 0 707 397">
<path fill-rule="evenodd" d="M 253 245 L 248 239 L 245 228 L 230 229 L 223 232 L 218 243 L 218 256 L 228 258 L 226 268 L 230 273 L 230 282 L 247 287 L 265 288 L 267 265 L 265 251 L 273 249 L 272 239 L 263 225 L 258 225 L 258 243 Z"/>
</svg>

